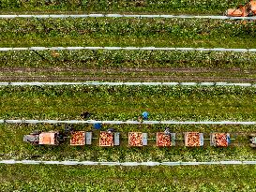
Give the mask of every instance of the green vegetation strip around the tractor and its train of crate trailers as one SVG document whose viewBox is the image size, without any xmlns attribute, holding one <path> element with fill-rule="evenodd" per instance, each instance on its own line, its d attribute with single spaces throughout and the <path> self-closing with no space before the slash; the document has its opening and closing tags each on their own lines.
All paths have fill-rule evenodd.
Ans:
<svg viewBox="0 0 256 192">
<path fill-rule="evenodd" d="M 218 161 L 218 160 L 254 160 L 256 154 L 248 146 L 248 133 L 255 126 L 169 126 L 176 132 L 175 147 L 157 147 L 156 133 L 165 126 L 111 126 L 103 125 L 102 130 L 114 127 L 121 133 L 121 146 L 106 148 L 98 146 L 98 130 L 89 125 L 74 125 L 76 130 L 93 131 L 93 144 L 82 147 L 69 145 L 69 140 L 59 146 L 33 146 L 23 142 L 23 136 L 34 130 L 64 130 L 63 125 L 1 125 L 0 159 L 33 160 L 80 160 L 80 161 Z M 128 147 L 128 132 L 142 131 L 148 134 L 148 146 Z M 204 133 L 202 148 L 184 147 L 183 132 L 199 131 Z M 228 148 L 215 148 L 209 144 L 210 132 L 231 132 L 232 144 Z"/>
</svg>

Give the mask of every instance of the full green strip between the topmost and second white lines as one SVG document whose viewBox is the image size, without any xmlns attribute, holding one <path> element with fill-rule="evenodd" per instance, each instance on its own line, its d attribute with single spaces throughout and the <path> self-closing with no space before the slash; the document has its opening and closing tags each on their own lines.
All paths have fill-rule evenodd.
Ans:
<svg viewBox="0 0 256 192">
<path fill-rule="evenodd" d="M 254 48 L 255 22 L 193 19 L 2 19 L 1 47 Z"/>
</svg>

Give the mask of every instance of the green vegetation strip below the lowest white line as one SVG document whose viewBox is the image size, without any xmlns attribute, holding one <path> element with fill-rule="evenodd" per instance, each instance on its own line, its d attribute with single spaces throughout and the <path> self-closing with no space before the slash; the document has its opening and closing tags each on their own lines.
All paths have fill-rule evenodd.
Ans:
<svg viewBox="0 0 256 192">
<path fill-rule="evenodd" d="M 0 166 L 1 191 L 255 191 L 255 166 Z M 28 177 L 29 175 L 29 177 Z"/>
</svg>

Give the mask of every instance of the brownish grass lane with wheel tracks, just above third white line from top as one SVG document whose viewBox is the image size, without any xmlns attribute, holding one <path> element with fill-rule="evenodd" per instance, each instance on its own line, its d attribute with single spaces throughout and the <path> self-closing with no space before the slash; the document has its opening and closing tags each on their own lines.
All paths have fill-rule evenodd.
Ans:
<svg viewBox="0 0 256 192">
<path fill-rule="evenodd" d="M 0 81 L 228 81 L 251 82 L 255 70 L 219 68 L 2 67 Z"/>
</svg>

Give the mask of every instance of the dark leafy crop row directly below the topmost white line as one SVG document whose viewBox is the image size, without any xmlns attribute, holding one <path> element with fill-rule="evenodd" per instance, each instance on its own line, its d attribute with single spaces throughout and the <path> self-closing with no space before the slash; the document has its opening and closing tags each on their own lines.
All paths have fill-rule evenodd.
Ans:
<svg viewBox="0 0 256 192">
<path fill-rule="evenodd" d="M 1 37 L 64 37 L 89 34 L 92 37 L 255 37 L 255 22 L 209 19 L 2 19 Z"/>
</svg>

